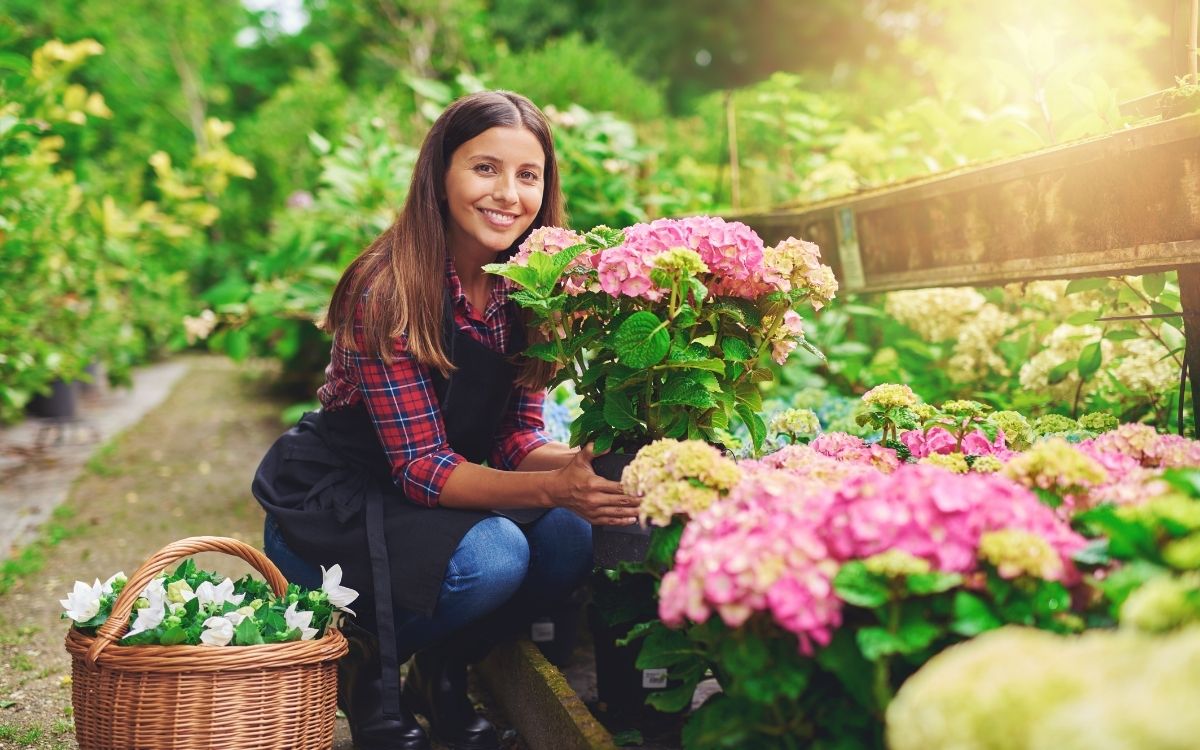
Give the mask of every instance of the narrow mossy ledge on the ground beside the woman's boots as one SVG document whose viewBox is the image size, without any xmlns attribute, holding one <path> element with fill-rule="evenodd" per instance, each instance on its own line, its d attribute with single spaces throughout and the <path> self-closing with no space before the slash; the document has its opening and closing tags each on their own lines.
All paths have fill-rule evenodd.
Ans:
<svg viewBox="0 0 1200 750">
<path fill-rule="evenodd" d="M 529 641 L 492 649 L 478 672 L 533 750 L 617 750 L 612 734 Z"/>
</svg>

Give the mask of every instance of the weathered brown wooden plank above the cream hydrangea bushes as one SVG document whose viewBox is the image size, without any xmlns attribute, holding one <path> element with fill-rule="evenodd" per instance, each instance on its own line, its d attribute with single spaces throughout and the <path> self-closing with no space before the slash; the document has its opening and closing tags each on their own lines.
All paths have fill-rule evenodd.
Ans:
<svg viewBox="0 0 1200 750">
<path fill-rule="evenodd" d="M 1200 262 L 1200 114 L 953 174 L 738 216 L 817 242 L 847 292 Z"/>
</svg>

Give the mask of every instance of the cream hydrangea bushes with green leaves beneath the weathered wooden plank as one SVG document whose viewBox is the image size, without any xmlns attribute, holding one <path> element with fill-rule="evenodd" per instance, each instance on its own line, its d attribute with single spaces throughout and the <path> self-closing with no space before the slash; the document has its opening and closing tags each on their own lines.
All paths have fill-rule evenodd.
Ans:
<svg viewBox="0 0 1200 750">
<path fill-rule="evenodd" d="M 1031 416 L 1109 413 L 1169 428 L 1178 412 L 1178 308 L 1174 272 L 862 296 L 809 328 L 828 360 L 798 358 L 781 382 L 815 372 L 842 392 L 906 383 L 932 402 L 978 397 Z M 1135 317 L 1146 314 L 1163 317 Z M 1103 432 L 1110 420 L 1088 424 Z M 1068 422 L 1037 432 L 1078 430 Z"/>
</svg>

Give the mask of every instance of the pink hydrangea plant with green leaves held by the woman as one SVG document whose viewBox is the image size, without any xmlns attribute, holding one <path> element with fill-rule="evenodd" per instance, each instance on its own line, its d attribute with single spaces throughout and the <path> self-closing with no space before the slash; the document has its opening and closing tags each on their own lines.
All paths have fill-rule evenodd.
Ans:
<svg viewBox="0 0 1200 750">
<path fill-rule="evenodd" d="M 616 451 L 595 464 L 614 479 L 660 438 L 732 448 L 744 425 L 761 446 L 760 384 L 773 378 L 761 360 L 782 364 L 797 347 L 820 355 L 797 311 L 820 310 L 838 289 L 812 242 L 766 247 L 750 227 L 708 216 L 586 234 L 544 227 L 485 268 L 520 287 L 512 299 L 536 331 L 526 354 L 554 365 L 551 386 L 574 385 L 582 413 L 571 443 Z M 604 538 L 620 534 L 610 530 L 596 540 L 601 564 Z M 636 557 L 644 541 L 635 547 L 616 557 Z"/>
</svg>

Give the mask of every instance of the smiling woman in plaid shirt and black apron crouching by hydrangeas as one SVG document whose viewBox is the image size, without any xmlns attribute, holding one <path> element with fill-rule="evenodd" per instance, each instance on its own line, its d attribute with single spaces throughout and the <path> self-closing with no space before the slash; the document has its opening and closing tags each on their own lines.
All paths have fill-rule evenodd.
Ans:
<svg viewBox="0 0 1200 750">
<path fill-rule="evenodd" d="M 373 595 L 347 628 L 340 679 L 358 748 L 428 748 L 412 710 L 456 750 L 498 748 L 466 696 L 467 662 L 580 582 L 589 523 L 636 522 L 590 446 L 541 432 L 546 362 L 515 356 L 526 331 L 510 286 L 482 271 L 563 223 L 542 113 L 505 91 L 451 104 L 396 222 L 334 290 L 320 410 L 254 478 L 268 554 L 289 578 L 319 584 L 314 565 L 338 563 Z"/>
</svg>

